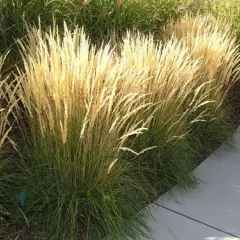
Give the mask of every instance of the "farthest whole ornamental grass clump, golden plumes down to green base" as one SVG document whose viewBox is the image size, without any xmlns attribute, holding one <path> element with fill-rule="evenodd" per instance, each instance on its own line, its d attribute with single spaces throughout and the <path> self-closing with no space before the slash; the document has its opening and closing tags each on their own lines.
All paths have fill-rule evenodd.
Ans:
<svg viewBox="0 0 240 240">
<path fill-rule="evenodd" d="M 195 125 L 193 132 L 201 139 L 197 140 L 200 145 L 215 148 L 232 133 L 224 104 L 229 90 L 239 80 L 236 38 L 226 23 L 210 15 L 186 15 L 178 22 L 170 23 L 166 32 L 186 45 L 192 58 L 200 61 L 199 85 L 206 83 L 202 91 L 208 91 L 208 100 L 212 103 L 207 109 L 208 121 Z"/>
</svg>

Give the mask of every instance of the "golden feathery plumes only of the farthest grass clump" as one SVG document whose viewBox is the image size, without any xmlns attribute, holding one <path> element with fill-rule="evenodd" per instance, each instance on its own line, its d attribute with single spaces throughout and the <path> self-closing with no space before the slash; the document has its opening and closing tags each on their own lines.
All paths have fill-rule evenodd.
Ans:
<svg viewBox="0 0 240 240">
<path fill-rule="evenodd" d="M 166 36 L 170 35 L 189 48 L 193 59 L 200 61 L 200 83 L 209 81 L 207 87 L 212 89 L 209 99 L 221 105 L 239 80 L 238 45 L 230 26 L 210 15 L 187 14 L 168 24 Z"/>
</svg>

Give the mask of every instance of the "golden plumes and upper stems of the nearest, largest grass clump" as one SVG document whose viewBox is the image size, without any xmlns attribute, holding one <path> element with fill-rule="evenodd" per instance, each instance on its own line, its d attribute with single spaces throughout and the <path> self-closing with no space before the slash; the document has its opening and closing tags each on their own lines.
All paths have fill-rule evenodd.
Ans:
<svg viewBox="0 0 240 240">
<path fill-rule="evenodd" d="M 127 91 L 126 81 L 142 76 L 125 71 L 109 45 L 96 50 L 78 28 L 70 32 L 65 26 L 63 38 L 57 28 L 46 34 L 33 29 L 28 39 L 22 45 L 25 74 L 18 91 L 28 134 L 38 144 L 50 142 L 47 148 L 54 141 L 53 151 L 63 149 L 68 157 L 63 163 L 56 156 L 55 167 L 74 170 L 82 179 L 104 178 L 123 149 L 131 152 L 127 140 L 146 131 L 152 118 L 139 114 L 151 107 L 143 101 L 145 93 Z M 74 160 L 71 144 L 77 144 Z M 78 161 L 74 169 L 72 161 Z"/>
</svg>

